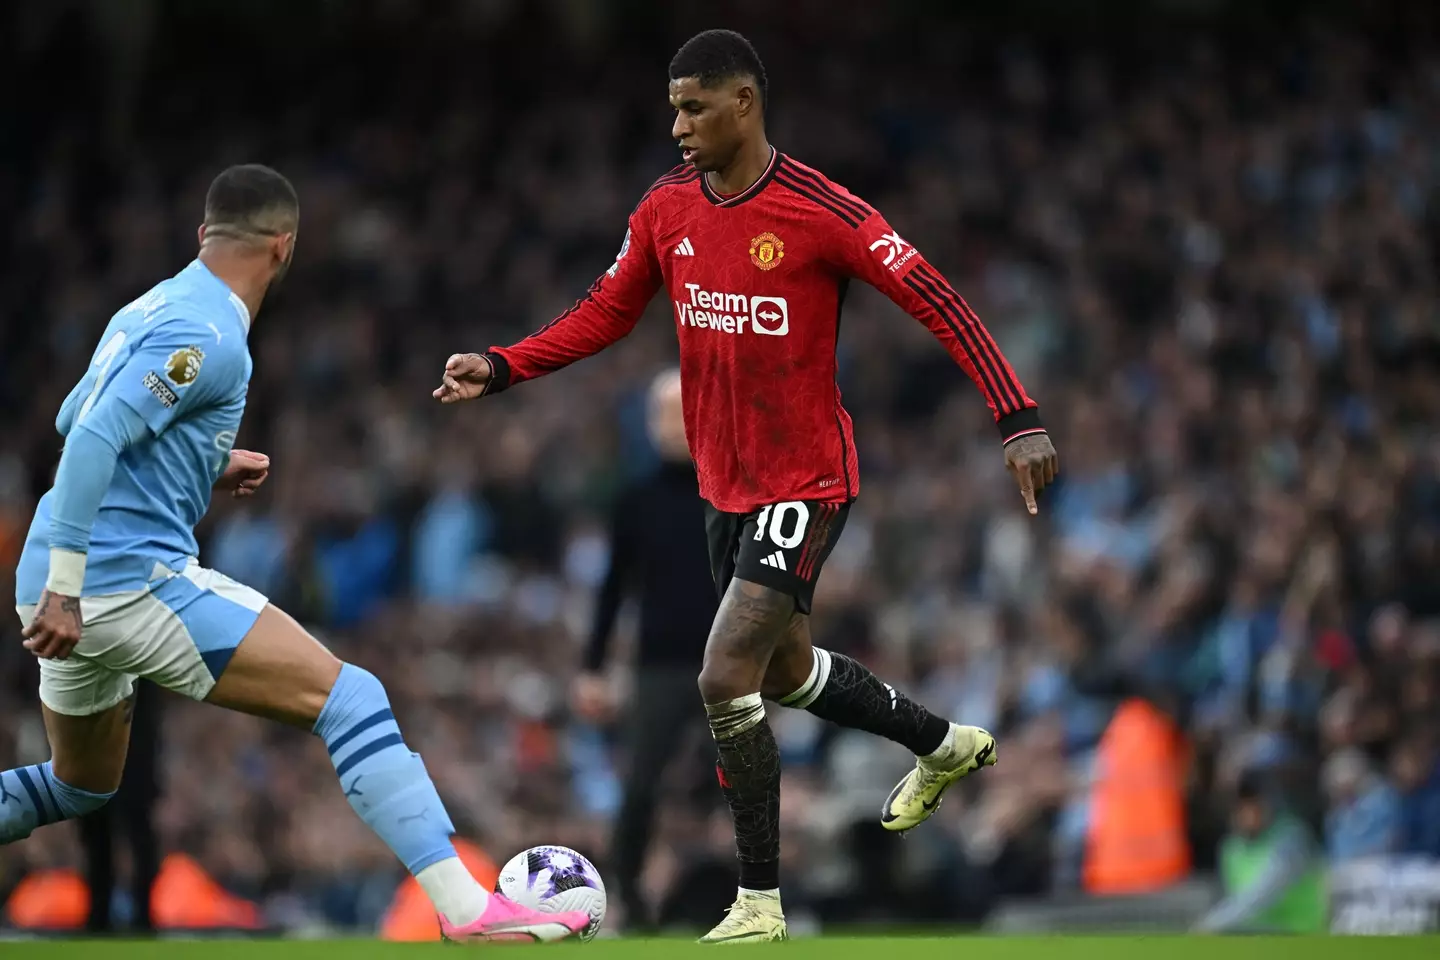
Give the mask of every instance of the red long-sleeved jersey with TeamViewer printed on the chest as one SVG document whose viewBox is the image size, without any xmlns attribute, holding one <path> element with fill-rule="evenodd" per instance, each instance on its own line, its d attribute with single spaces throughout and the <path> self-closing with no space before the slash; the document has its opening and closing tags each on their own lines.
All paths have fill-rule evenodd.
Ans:
<svg viewBox="0 0 1440 960">
<path fill-rule="evenodd" d="M 835 341 L 852 278 L 930 328 L 985 394 L 1002 440 L 1044 429 L 979 318 L 919 250 L 848 190 L 779 151 L 755 186 L 732 197 L 688 164 L 657 180 L 615 263 L 585 298 L 528 338 L 487 353 L 490 391 L 609 347 L 664 286 L 700 495 L 727 512 L 848 501 L 860 476 L 835 386 Z"/>
</svg>

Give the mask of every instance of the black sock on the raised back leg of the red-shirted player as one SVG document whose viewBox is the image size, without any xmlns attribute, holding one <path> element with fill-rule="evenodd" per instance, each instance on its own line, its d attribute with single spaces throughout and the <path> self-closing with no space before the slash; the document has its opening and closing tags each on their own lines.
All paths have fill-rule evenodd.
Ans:
<svg viewBox="0 0 1440 960">
<path fill-rule="evenodd" d="M 917 757 L 939 750 L 950 731 L 948 720 L 886 684 L 863 664 L 818 646 L 809 679 L 780 705 L 894 740 Z"/>
</svg>

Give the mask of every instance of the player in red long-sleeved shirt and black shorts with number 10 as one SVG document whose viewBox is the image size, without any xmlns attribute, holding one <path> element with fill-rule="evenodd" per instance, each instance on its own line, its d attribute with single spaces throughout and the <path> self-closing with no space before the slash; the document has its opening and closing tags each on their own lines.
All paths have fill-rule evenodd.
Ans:
<svg viewBox="0 0 1440 960">
<path fill-rule="evenodd" d="M 946 787 L 995 763 L 989 733 L 939 718 L 811 643 L 815 581 L 860 492 L 835 386 L 848 282 L 878 288 L 929 327 L 981 389 L 1031 514 L 1058 469 L 1035 402 L 975 312 L 874 209 L 769 144 L 765 99 L 765 68 L 744 37 L 688 40 L 670 65 L 684 163 L 641 197 L 615 263 L 531 337 L 451 357 L 435 391 L 452 403 L 553 373 L 625 337 L 657 291 L 670 294 L 721 597 L 700 692 L 740 859 L 739 898 L 710 943 L 785 937 L 780 766 L 762 697 L 916 754 L 881 812 L 891 830 L 916 826 Z"/>
</svg>

